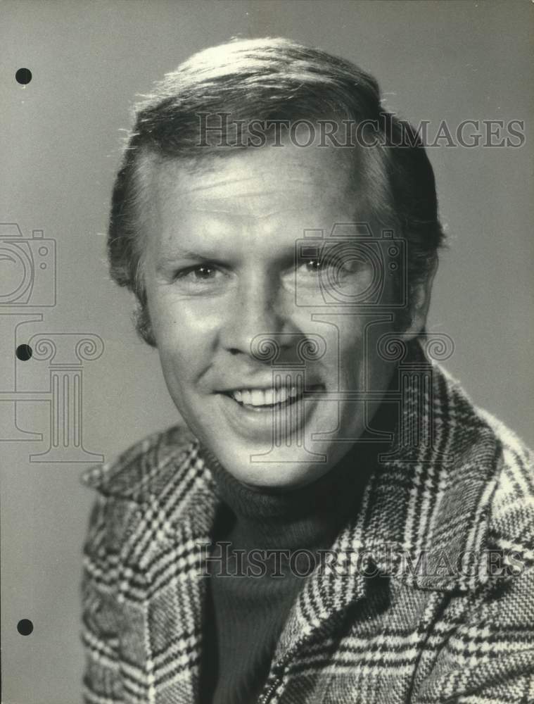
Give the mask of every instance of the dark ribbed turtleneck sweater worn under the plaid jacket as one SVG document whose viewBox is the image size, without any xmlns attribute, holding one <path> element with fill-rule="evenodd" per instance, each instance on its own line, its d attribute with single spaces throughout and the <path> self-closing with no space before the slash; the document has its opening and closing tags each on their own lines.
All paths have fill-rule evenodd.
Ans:
<svg viewBox="0 0 534 704">
<path fill-rule="evenodd" d="M 276 642 L 303 579 L 317 564 L 317 551 L 331 548 L 348 517 L 355 516 L 377 452 L 386 449 L 376 443 L 352 446 L 324 476 L 284 493 L 251 489 L 203 449 L 222 503 L 211 534 L 210 555 L 220 560 L 208 567 L 201 704 L 258 701 Z M 221 542 L 230 544 L 215 544 Z M 257 552 L 254 559 L 254 548 L 275 552 Z M 242 557 L 234 551 L 243 551 Z M 295 551 L 300 556 L 291 562 L 288 555 Z"/>
</svg>

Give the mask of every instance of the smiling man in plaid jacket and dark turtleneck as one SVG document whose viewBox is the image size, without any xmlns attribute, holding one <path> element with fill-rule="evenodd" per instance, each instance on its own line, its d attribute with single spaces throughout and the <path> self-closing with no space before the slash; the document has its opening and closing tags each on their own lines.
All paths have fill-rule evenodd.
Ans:
<svg viewBox="0 0 534 704">
<path fill-rule="evenodd" d="M 533 699 L 531 458 L 434 361 L 442 240 L 351 63 L 231 42 L 139 105 L 110 265 L 187 427 L 87 474 L 87 702 Z"/>
</svg>

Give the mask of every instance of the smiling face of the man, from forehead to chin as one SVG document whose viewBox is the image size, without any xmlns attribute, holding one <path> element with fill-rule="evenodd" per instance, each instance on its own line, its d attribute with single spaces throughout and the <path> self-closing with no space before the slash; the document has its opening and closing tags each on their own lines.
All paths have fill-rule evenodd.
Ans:
<svg viewBox="0 0 534 704">
<path fill-rule="evenodd" d="M 285 145 L 197 170 L 163 163 L 147 186 L 148 312 L 168 389 L 191 431 L 249 486 L 291 489 L 327 472 L 393 373 L 376 352 L 390 316 L 346 305 L 369 289 L 372 267 L 357 256 L 295 261 L 305 230 L 324 230 L 329 246 L 334 223 L 365 220 L 350 174 L 341 150 Z M 341 299 L 325 306 L 331 281 Z M 388 295 L 390 279 L 382 303 Z M 365 411 L 344 393 L 363 389 L 374 392 Z"/>
</svg>

